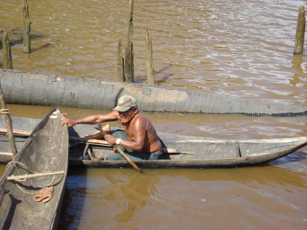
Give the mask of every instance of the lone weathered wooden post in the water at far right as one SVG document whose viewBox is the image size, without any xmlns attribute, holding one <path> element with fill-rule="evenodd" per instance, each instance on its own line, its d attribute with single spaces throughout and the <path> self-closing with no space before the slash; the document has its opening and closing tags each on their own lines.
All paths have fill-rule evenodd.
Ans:
<svg viewBox="0 0 307 230">
<path fill-rule="evenodd" d="M 300 6 L 299 14 L 297 17 L 297 25 L 296 25 L 295 44 L 293 51 L 294 54 L 303 53 L 305 27 L 306 27 L 305 7 Z"/>
</svg>

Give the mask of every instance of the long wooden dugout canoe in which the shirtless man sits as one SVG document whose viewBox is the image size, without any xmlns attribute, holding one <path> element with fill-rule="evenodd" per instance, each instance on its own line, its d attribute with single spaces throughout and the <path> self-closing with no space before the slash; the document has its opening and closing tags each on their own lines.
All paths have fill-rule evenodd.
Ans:
<svg viewBox="0 0 307 230">
<path fill-rule="evenodd" d="M 13 117 L 14 129 L 23 127 L 30 128 L 37 119 Z M 23 124 L 22 126 L 18 124 Z M 0 128 L 3 124 L 0 123 Z M 100 161 L 84 160 L 82 158 L 86 143 L 73 141 L 73 137 L 83 137 L 87 133 L 93 133 L 96 130 L 93 125 L 77 124 L 68 128 L 70 136 L 69 164 L 86 167 L 131 167 L 125 160 L 119 161 Z M 160 160 L 137 160 L 134 163 L 140 168 L 213 168 L 213 167 L 240 167 L 251 166 L 274 159 L 284 157 L 290 153 L 307 145 L 307 137 L 284 138 L 284 139 L 259 139 L 259 140 L 216 140 L 205 139 L 201 137 L 173 135 L 167 133 L 158 133 L 164 147 L 176 149 L 181 153 L 164 153 Z M 17 143 L 22 142 L 22 138 L 17 138 Z M 83 140 L 84 141 L 84 140 Z M 99 142 L 99 141 L 98 141 Z M 86 155 L 108 157 L 113 154 L 111 146 L 101 141 L 102 145 L 89 144 Z M 4 147 L 7 146 L 7 147 Z M 2 160 L 4 153 L 8 152 L 8 141 L 1 141 Z M 192 154 L 184 154 L 193 153 Z M 196 155 L 194 155 L 196 154 Z M 1 155 L 0 155 L 1 156 Z"/>
</svg>

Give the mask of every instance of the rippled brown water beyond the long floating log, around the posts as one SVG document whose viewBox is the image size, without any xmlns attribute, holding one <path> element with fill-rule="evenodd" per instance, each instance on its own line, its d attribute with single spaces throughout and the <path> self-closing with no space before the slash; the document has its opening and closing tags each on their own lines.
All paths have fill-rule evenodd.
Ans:
<svg viewBox="0 0 307 230">
<path fill-rule="evenodd" d="M 135 0 L 134 81 L 146 79 L 148 26 L 157 85 L 306 106 L 306 47 L 293 55 L 298 9 L 304 3 Z M 117 80 L 117 42 L 125 44 L 128 0 L 29 1 L 36 50 L 30 54 L 22 52 L 19 41 L 22 1 L 0 4 L 0 29 L 16 43 L 14 69 Z"/>
</svg>

